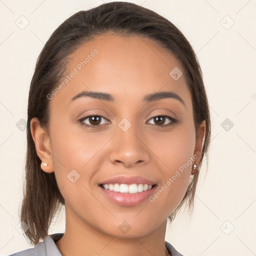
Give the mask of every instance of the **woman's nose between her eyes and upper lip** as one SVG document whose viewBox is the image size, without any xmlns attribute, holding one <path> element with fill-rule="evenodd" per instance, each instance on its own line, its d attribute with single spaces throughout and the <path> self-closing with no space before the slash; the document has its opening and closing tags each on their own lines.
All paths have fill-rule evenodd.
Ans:
<svg viewBox="0 0 256 256">
<path fill-rule="evenodd" d="M 133 167 L 149 161 L 149 148 L 146 136 L 131 125 L 126 131 L 116 128 L 116 135 L 111 140 L 109 160 L 115 165 Z"/>
</svg>

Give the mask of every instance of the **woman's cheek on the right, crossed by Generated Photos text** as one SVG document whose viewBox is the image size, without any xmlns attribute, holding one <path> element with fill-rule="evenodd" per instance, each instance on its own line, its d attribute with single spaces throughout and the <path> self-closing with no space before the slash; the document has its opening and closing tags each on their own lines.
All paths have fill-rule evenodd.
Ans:
<svg viewBox="0 0 256 256">
<path fill-rule="evenodd" d="M 168 134 L 155 134 L 151 144 L 160 159 L 164 176 L 152 201 L 158 200 L 158 204 L 166 204 L 174 209 L 183 198 L 189 183 L 195 145 L 194 129 L 180 125 Z"/>
</svg>

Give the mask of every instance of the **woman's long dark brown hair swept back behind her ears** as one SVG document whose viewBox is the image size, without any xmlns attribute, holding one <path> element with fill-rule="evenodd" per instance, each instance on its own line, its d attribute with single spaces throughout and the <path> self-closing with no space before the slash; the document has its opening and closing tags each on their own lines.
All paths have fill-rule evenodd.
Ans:
<svg viewBox="0 0 256 256">
<path fill-rule="evenodd" d="M 188 188 L 179 205 L 168 216 L 174 219 L 181 206 L 186 203 L 193 210 L 194 193 L 204 155 L 207 156 L 210 141 L 210 114 L 201 69 L 195 53 L 184 35 L 169 20 L 156 12 L 135 3 L 116 1 L 101 4 L 89 10 L 78 11 L 51 34 L 43 46 L 35 65 L 30 83 L 27 108 L 27 150 L 23 199 L 20 221 L 28 225 L 23 233 L 30 244 L 35 244 L 48 235 L 49 225 L 65 201 L 56 183 L 54 172 L 46 173 L 40 167 L 31 136 L 30 120 L 37 117 L 47 128 L 49 100 L 47 94 L 63 77 L 68 56 L 82 43 L 100 34 L 138 35 L 156 41 L 180 60 L 186 83 L 191 93 L 194 126 L 205 120 L 205 138 L 198 170 L 191 176 Z M 22 222 L 21 222 L 22 223 Z"/>
</svg>

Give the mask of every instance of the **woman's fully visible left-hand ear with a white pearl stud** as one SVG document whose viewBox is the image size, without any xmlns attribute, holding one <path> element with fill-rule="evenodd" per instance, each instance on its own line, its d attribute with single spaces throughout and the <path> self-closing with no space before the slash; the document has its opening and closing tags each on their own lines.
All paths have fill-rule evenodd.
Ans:
<svg viewBox="0 0 256 256">
<path fill-rule="evenodd" d="M 37 117 L 30 121 L 30 130 L 33 137 L 36 153 L 41 159 L 41 169 L 45 172 L 53 172 L 53 163 L 51 157 L 50 139 L 45 128 L 42 128 Z M 43 163 L 47 163 L 44 166 Z"/>
</svg>

